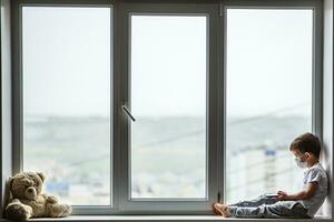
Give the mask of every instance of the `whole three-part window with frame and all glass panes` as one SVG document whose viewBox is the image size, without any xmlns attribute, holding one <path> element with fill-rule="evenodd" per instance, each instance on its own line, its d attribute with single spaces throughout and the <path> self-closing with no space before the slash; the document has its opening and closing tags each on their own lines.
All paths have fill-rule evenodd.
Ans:
<svg viewBox="0 0 334 222">
<path fill-rule="evenodd" d="M 46 171 L 75 214 L 209 214 L 293 189 L 288 143 L 322 134 L 321 1 L 13 9 L 13 169 Z"/>
</svg>

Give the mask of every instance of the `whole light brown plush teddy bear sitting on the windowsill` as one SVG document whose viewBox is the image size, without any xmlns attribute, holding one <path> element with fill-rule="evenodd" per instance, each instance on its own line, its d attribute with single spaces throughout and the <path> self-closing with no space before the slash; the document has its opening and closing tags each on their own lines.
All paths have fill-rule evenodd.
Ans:
<svg viewBox="0 0 334 222">
<path fill-rule="evenodd" d="M 41 172 L 21 172 L 9 178 L 11 198 L 6 206 L 6 218 L 27 221 L 30 218 L 61 218 L 71 213 L 71 206 L 60 204 L 53 195 L 42 192 L 46 176 Z"/>
</svg>

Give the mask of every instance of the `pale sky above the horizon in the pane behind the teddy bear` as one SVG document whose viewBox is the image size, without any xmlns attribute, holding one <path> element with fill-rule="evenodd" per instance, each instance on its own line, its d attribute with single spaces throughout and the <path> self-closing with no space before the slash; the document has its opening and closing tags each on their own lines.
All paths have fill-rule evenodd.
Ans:
<svg viewBox="0 0 334 222">
<path fill-rule="evenodd" d="M 110 113 L 110 9 L 23 7 L 26 114 Z"/>
</svg>

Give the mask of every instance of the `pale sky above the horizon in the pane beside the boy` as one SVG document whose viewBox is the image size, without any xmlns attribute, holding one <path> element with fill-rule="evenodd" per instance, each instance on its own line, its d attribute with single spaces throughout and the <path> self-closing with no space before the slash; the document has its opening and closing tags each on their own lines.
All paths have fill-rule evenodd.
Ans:
<svg viewBox="0 0 334 222">
<path fill-rule="evenodd" d="M 228 10 L 228 115 L 257 115 L 301 107 L 291 111 L 310 117 L 312 13 L 292 9 Z"/>
</svg>

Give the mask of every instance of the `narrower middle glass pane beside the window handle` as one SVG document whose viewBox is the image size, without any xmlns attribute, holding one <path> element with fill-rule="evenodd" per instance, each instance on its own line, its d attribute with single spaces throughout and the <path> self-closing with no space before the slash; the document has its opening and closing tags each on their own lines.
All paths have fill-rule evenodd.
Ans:
<svg viewBox="0 0 334 222">
<path fill-rule="evenodd" d="M 206 17 L 131 16 L 131 196 L 206 196 Z"/>
</svg>

